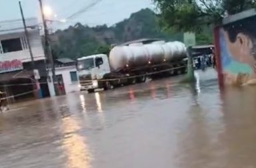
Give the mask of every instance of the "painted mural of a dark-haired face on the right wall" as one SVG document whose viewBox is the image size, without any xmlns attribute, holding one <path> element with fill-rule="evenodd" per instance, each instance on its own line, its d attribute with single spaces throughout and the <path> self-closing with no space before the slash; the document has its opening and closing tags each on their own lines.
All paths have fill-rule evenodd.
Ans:
<svg viewBox="0 0 256 168">
<path fill-rule="evenodd" d="M 225 84 L 256 84 L 256 16 L 219 30 L 219 49 Z"/>
</svg>

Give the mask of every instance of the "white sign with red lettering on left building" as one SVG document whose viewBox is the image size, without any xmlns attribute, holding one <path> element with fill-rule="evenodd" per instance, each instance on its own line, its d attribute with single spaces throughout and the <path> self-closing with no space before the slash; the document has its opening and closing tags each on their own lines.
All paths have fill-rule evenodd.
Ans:
<svg viewBox="0 0 256 168">
<path fill-rule="evenodd" d="M 12 72 L 16 70 L 22 70 L 23 64 L 21 60 L 6 60 L 0 61 L 0 73 Z"/>
</svg>

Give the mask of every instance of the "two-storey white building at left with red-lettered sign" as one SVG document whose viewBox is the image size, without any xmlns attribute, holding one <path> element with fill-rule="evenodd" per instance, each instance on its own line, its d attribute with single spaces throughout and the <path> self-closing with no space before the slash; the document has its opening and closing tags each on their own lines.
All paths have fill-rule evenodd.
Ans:
<svg viewBox="0 0 256 168">
<path fill-rule="evenodd" d="M 41 82 L 41 94 L 49 96 L 47 86 L 47 70 L 45 54 L 41 41 L 39 25 L 36 18 L 25 19 L 33 60 L 35 67 L 39 70 Z M 33 90 L 34 72 L 31 67 L 31 55 L 22 20 L 0 22 L 0 85 L 13 85 L 31 83 L 27 86 L 5 88 L 9 96 L 15 96 L 28 90 Z M 3 88 L 0 87 L 0 90 Z M 28 96 L 28 95 L 26 95 Z M 26 97 L 24 96 L 24 97 Z M 33 97 L 33 93 L 30 97 Z M 26 97 L 27 98 L 27 97 Z"/>
</svg>

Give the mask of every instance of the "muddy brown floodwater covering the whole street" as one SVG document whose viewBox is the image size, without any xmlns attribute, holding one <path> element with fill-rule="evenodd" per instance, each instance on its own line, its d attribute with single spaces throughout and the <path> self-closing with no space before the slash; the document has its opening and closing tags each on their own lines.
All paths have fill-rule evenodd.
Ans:
<svg viewBox="0 0 256 168">
<path fill-rule="evenodd" d="M 0 167 L 256 167 L 256 88 L 199 77 L 17 104 L 0 115 Z"/>
</svg>

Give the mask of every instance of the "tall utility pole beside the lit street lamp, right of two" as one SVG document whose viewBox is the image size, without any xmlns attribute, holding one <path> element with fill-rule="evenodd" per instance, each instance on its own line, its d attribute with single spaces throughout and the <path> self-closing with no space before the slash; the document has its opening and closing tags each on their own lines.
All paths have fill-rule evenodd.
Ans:
<svg viewBox="0 0 256 168">
<path fill-rule="evenodd" d="M 53 87 L 54 87 L 54 91 L 55 91 L 55 95 L 58 95 L 58 90 L 57 90 L 57 86 L 56 86 L 56 75 L 55 75 L 55 65 L 54 65 L 54 60 L 53 60 L 53 54 L 51 52 L 51 46 L 49 43 L 49 31 L 47 28 L 47 23 L 45 20 L 45 14 L 43 13 L 43 3 L 42 0 L 39 0 L 39 5 L 40 5 L 40 9 L 41 9 L 41 15 L 42 15 L 42 19 L 43 19 L 43 29 L 45 31 L 45 54 L 47 55 L 47 58 L 49 59 L 49 62 L 51 64 L 51 73 L 53 76 Z"/>
</svg>

